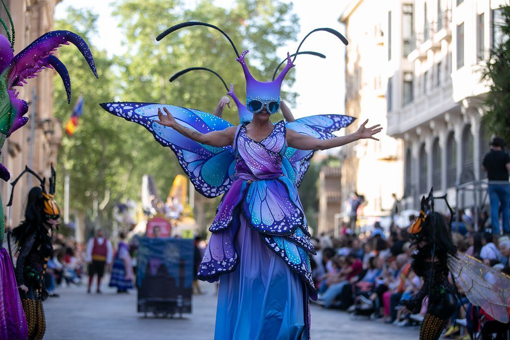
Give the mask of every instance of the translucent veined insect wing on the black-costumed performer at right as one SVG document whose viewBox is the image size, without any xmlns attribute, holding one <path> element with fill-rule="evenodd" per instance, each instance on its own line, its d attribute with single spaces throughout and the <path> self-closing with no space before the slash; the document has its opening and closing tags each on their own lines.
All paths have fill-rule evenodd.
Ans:
<svg viewBox="0 0 510 340">
<path fill-rule="evenodd" d="M 510 277 L 461 252 L 448 256 L 448 269 L 472 304 L 499 322 L 509 321 Z"/>
</svg>

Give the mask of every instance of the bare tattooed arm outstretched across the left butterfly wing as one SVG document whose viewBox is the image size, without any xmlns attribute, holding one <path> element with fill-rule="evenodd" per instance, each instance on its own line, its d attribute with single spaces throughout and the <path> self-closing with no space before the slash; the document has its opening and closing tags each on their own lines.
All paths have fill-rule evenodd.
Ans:
<svg viewBox="0 0 510 340">
<path fill-rule="evenodd" d="M 181 135 L 186 136 L 195 142 L 216 147 L 232 145 L 234 142 L 234 135 L 236 134 L 235 126 L 227 127 L 224 130 L 212 131 L 207 134 L 202 134 L 197 130 L 177 123 L 175 118 L 173 118 L 172 114 L 168 112 L 166 108 L 163 108 L 163 110 L 165 111 L 166 115 L 161 112 L 161 109 L 158 109 L 159 121 L 155 120 L 155 122 L 164 126 L 171 127 Z"/>
</svg>

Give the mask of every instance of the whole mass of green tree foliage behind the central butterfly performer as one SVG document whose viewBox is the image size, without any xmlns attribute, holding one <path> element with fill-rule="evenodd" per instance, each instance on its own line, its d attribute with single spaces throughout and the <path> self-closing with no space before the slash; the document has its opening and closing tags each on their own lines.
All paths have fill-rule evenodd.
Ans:
<svg viewBox="0 0 510 340">
<path fill-rule="evenodd" d="M 220 32 L 192 27 L 157 42 L 159 33 L 189 20 L 215 24 L 231 36 L 240 53 L 251 49 L 246 58 L 250 70 L 256 79 L 264 80 L 270 79 L 276 65 L 286 57 L 276 55 L 277 47 L 295 39 L 298 31 L 291 5 L 270 0 L 240 0 L 232 9 L 209 1 L 189 8 L 177 0 L 125 0 L 115 5 L 113 15 L 120 21 L 127 52 L 109 58 L 106 51 L 90 46 L 99 80 L 94 79 L 76 49 L 61 48 L 59 54 L 69 68 L 73 97 L 68 105 L 56 77 L 56 116 L 65 124 L 75 100 L 80 94 L 84 97 L 77 132 L 64 137 L 59 152 L 59 173 L 67 171 L 71 176 L 71 207 L 80 211 L 90 210 L 94 193 L 99 201 L 104 200 L 107 190 L 111 198 L 106 213 L 116 201 L 138 200 L 143 174 L 154 175 L 160 193 L 165 195 L 174 176 L 182 173 L 170 149 L 161 147 L 142 126 L 103 111 L 100 102 L 161 102 L 212 112 L 226 93 L 214 75 L 197 71 L 169 83 L 172 74 L 192 66 L 216 70 L 227 83 L 234 83 L 240 98 L 244 96 L 241 67 Z M 96 25 L 96 14 L 75 9 L 56 22 L 57 29 L 78 33 L 89 45 L 97 34 Z M 288 78 L 287 82 L 293 82 L 292 74 Z M 292 100 L 292 94 L 287 98 Z M 239 121 L 235 108 L 225 109 L 224 118 L 234 124 Z M 60 192 L 62 188 L 60 181 Z"/>
</svg>

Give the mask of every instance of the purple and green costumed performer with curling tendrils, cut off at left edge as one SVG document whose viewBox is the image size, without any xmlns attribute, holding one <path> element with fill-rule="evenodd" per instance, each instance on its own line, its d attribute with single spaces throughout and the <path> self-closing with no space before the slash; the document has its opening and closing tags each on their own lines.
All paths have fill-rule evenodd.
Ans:
<svg viewBox="0 0 510 340">
<path fill-rule="evenodd" d="M 28 103 L 18 98 L 15 87 L 23 86 L 28 79 L 37 76 L 37 73 L 45 68 L 54 68 L 62 78 L 67 100 L 70 101 L 69 73 L 65 65 L 53 55 L 58 47 L 68 45 L 70 42 L 76 45 L 97 77 L 94 60 L 87 44 L 80 36 L 69 31 L 48 32 L 14 55 L 14 24 L 4 0 L 2 5 L 9 17 L 12 31 L 9 31 L 7 24 L 0 18 L 0 23 L 7 34 L 7 36 L 0 34 L 0 149 L 4 146 L 5 140 L 28 121 L 28 118 L 24 117 L 28 112 Z M 2 164 L 0 178 L 5 181 L 10 178 L 9 171 Z M 3 243 L 4 230 L 4 209 L 0 199 L 0 244 Z M 21 308 L 11 259 L 5 248 L 0 249 L 0 276 L 0 338 L 24 339 L 27 324 Z"/>
</svg>

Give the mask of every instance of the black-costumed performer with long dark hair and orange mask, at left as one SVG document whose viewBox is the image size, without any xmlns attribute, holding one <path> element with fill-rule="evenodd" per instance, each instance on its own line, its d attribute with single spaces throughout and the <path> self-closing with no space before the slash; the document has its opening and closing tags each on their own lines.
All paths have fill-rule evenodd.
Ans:
<svg viewBox="0 0 510 340">
<path fill-rule="evenodd" d="M 40 340 L 46 330 L 42 302 L 48 298 L 43 280 L 49 257 L 53 252 L 52 232 L 60 222 L 60 209 L 55 202 L 55 170 L 49 179 L 46 191 L 45 179 L 26 168 L 13 181 L 13 192 L 8 206 L 12 203 L 14 188 L 21 176 L 31 173 L 39 179 L 41 186 L 30 190 L 25 219 L 12 231 L 17 244 L 16 281 L 28 324 L 28 338 Z"/>
</svg>

